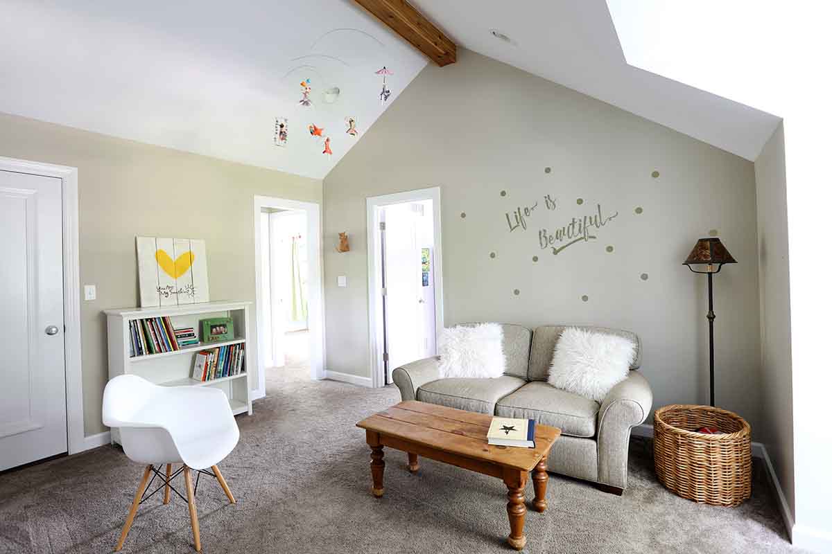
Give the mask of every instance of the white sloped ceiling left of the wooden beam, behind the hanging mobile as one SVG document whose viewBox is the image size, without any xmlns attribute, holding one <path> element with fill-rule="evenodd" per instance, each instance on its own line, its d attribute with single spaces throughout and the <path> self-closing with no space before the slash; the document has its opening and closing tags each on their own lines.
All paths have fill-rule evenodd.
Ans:
<svg viewBox="0 0 832 554">
<path fill-rule="evenodd" d="M 318 179 L 357 140 L 344 118 L 360 138 L 426 64 L 350 0 L 0 0 L 0 13 L 0 111 Z"/>
</svg>

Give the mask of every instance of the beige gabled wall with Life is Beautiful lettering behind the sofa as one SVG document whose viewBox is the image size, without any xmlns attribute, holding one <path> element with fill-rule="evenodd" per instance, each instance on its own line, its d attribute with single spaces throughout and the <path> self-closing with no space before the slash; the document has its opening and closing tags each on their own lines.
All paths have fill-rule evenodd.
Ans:
<svg viewBox="0 0 832 554">
<path fill-rule="evenodd" d="M 452 66 L 426 67 L 324 179 L 324 244 L 346 231 L 352 248 L 324 248 L 328 370 L 369 375 L 365 199 L 435 185 L 446 325 L 631 329 L 644 341 L 656 406 L 707 402 L 706 277 L 681 262 L 718 230 L 739 263 L 715 278 L 716 399 L 756 423 L 753 164 L 471 51 Z M 542 206 L 544 194 L 555 210 Z M 536 201 L 527 230 L 509 232 L 505 214 Z M 540 228 L 592 215 L 597 203 L 619 213 L 597 240 L 557 256 L 539 248 Z M 338 275 L 348 287 L 336 287 Z"/>
</svg>

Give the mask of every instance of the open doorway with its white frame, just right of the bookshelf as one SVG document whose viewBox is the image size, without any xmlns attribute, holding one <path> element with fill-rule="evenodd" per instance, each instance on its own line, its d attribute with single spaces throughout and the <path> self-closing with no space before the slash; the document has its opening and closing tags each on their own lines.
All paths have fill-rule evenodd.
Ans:
<svg viewBox="0 0 832 554">
<path fill-rule="evenodd" d="M 319 206 L 255 197 L 255 219 L 258 392 L 265 395 L 267 381 L 323 376 Z"/>
</svg>

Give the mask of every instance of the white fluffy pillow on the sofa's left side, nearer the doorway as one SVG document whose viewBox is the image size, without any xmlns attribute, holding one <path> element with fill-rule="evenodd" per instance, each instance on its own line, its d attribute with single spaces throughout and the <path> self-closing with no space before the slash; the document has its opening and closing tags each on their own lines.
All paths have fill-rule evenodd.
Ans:
<svg viewBox="0 0 832 554">
<path fill-rule="evenodd" d="M 439 333 L 439 377 L 495 378 L 506 370 L 503 327 L 480 323 Z"/>
</svg>

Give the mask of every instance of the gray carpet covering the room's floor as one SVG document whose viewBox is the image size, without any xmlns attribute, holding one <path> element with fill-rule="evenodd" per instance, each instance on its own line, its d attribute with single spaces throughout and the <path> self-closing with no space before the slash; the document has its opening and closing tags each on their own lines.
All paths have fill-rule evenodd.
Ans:
<svg viewBox="0 0 832 554">
<path fill-rule="evenodd" d="M 220 464 L 238 503 L 201 480 L 206 554 L 513 552 L 498 479 L 426 459 L 411 475 L 404 453 L 387 449 L 384 498 L 370 495 L 369 448 L 354 424 L 398 390 L 277 379 L 267 390 L 253 416 L 238 417 L 240 444 Z M 667 492 L 650 456 L 650 442 L 635 440 L 621 498 L 552 475 L 547 512 L 527 513 L 524 552 L 798 552 L 759 466 L 753 498 L 728 509 Z M 0 552 L 111 552 L 140 478 L 141 465 L 109 446 L 0 475 Z M 530 503 L 531 484 L 526 494 Z M 186 503 L 143 504 L 123 552 L 193 552 Z"/>
</svg>

